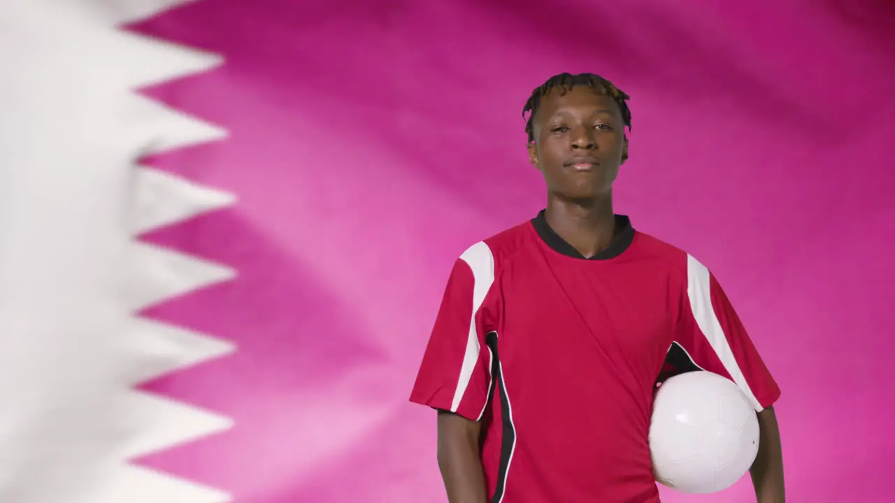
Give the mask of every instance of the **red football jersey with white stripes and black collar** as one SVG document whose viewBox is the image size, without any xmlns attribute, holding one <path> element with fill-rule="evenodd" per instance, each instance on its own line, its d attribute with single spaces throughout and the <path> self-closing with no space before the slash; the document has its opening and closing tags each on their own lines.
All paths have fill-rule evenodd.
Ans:
<svg viewBox="0 0 895 503">
<path fill-rule="evenodd" d="M 617 224 L 585 259 L 541 212 L 456 260 L 411 400 L 483 422 L 492 503 L 659 501 L 647 436 L 669 372 L 725 376 L 756 411 L 780 396 L 709 270 Z"/>
</svg>

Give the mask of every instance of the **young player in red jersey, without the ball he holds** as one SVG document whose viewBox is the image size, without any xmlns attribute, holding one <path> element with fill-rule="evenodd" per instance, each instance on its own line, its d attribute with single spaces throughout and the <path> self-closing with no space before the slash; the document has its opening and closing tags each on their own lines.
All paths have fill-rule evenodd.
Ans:
<svg viewBox="0 0 895 503">
<path fill-rule="evenodd" d="M 717 280 L 612 208 L 627 95 L 592 74 L 534 90 L 547 208 L 456 260 L 411 400 L 438 413 L 451 503 L 654 503 L 656 383 L 703 369 L 753 402 L 760 503 L 782 503 L 780 389 Z M 674 367 L 674 368 L 672 368 Z"/>
</svg>

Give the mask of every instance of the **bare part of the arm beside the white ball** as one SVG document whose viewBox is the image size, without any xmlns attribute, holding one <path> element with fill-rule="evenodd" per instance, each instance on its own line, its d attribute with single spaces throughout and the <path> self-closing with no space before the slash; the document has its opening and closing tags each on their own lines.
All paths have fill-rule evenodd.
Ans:
<svg viewBox="0 0 895 503">
<path fill-rule="evenodd" d="M 783 484 L 783 448 L 780 446 L 780 428 L 774 408 L 758 413 L 758 455 L 749 474 L 755 488 L 758 503 L 784 503 L 786 490 Z"/>
</svg>

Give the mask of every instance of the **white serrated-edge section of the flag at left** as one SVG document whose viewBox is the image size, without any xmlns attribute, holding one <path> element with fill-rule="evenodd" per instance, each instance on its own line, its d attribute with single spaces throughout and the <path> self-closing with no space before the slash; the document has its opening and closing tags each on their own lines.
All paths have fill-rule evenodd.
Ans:
<svg viewBox="0 0 895 503">
<path fill-rule="evenodd" d="M 134 166 L 141 152 L 226 137 L 134 92 L 221 63 L 121 29 L 183 3 L 0 2 L 0 123 L 8 132 L 0 139 L 2 501 L 230 499 L 129 461 L 231 426 L 137 390 L 234 351 L 133 315 L 235 276 L 134 239 L 234 203 L 231 194 Z"/>
</svg>

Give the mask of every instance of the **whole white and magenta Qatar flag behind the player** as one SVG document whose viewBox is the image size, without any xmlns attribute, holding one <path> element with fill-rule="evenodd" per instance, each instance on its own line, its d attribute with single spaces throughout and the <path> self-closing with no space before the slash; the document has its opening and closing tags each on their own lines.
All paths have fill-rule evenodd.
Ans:
<svg viewBox="0 0 895 503">
<path fill-rule="evenodd" d="M 633 97 L 618 211 L 725 285 L 789 499 L 891 501 L 892 5 L 4 0 L 0 501 L 444 501 L 407 398 L 558 72 Z"/>
</svg>

